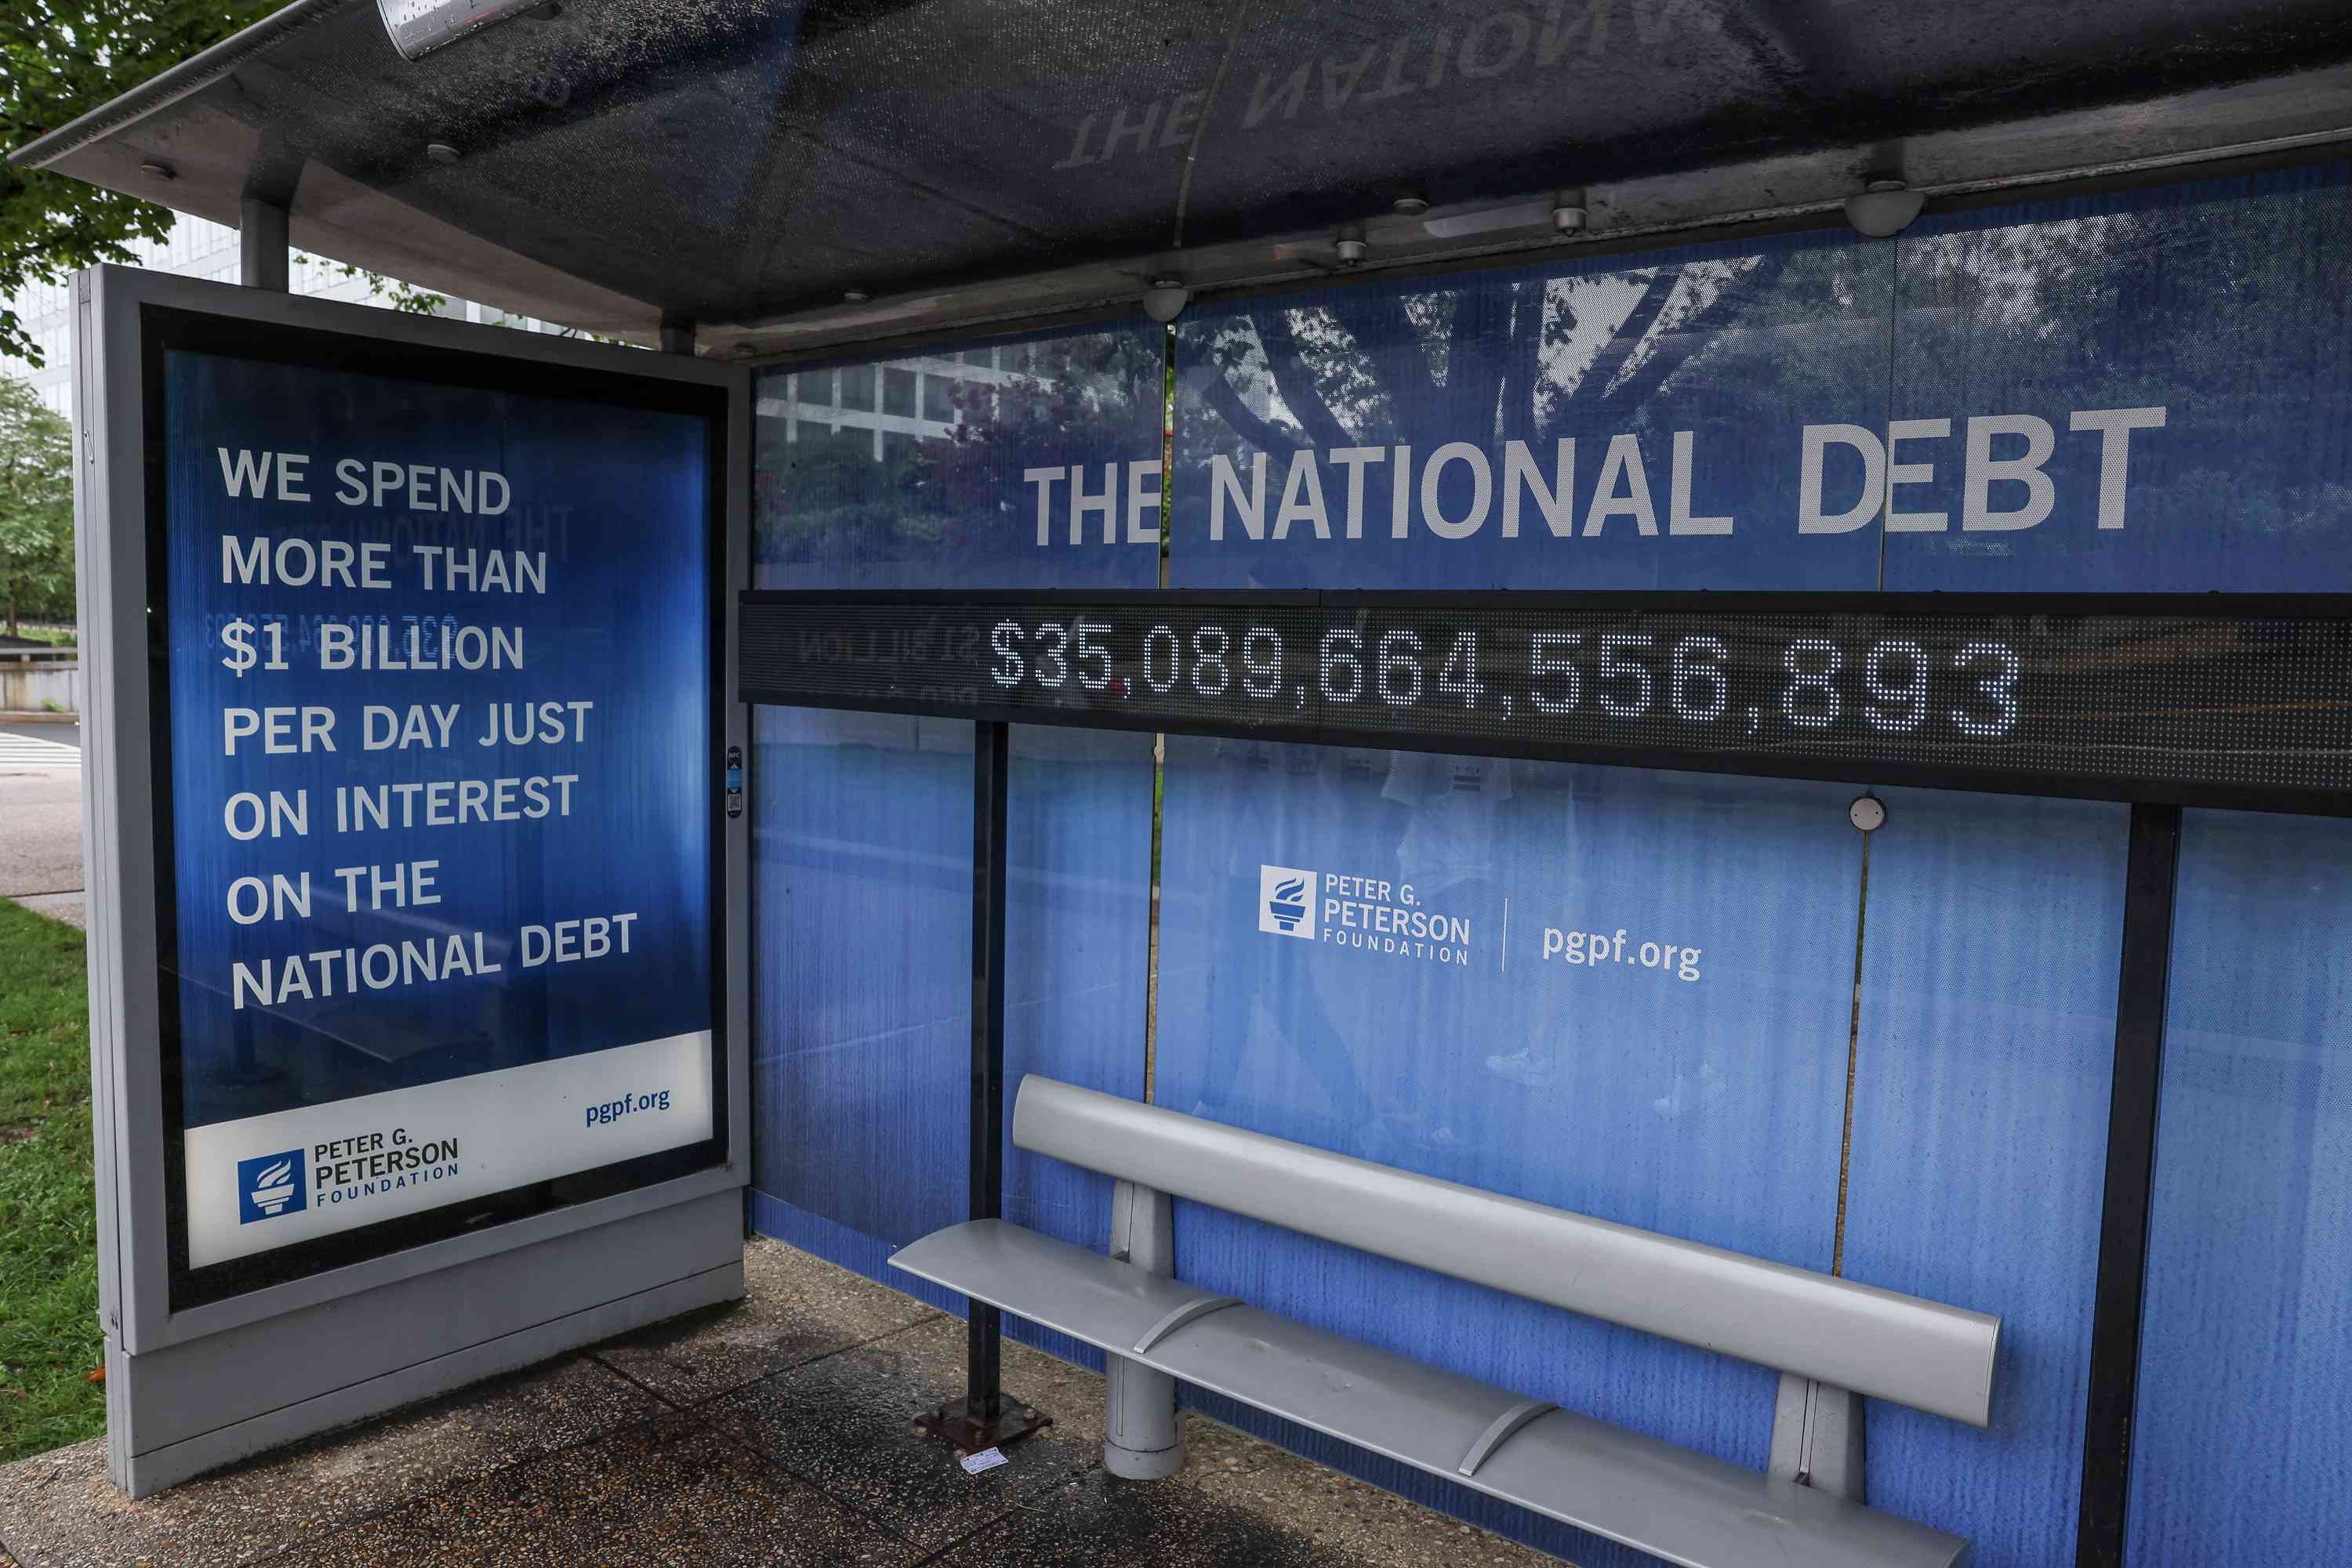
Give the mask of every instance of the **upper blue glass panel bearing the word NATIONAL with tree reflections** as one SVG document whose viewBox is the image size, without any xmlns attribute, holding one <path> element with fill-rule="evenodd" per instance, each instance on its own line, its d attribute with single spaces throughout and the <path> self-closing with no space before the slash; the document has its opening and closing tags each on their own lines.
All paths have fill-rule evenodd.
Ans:
<svg viewBox="0 0 2352 1568">
<path fill-rule="evenodd" d="M 1844 512 L 1886 421 L 1893 247 L 1790 235 L 1195 306 L 1185 588 L 1877 585 Z"/>
</svg>

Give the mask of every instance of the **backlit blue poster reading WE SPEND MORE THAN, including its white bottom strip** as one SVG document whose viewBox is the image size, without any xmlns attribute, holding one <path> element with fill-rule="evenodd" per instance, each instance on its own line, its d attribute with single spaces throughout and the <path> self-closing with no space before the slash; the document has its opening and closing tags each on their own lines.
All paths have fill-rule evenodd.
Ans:
<svg viewBox="0 0 2352 1568">
<path fill-rule="evenodd" d="M 675 1175 L 724 1124 L 717 395 L 216 334 L 165 329 L 148 386 L 193 1300 Z"/>
</svg>

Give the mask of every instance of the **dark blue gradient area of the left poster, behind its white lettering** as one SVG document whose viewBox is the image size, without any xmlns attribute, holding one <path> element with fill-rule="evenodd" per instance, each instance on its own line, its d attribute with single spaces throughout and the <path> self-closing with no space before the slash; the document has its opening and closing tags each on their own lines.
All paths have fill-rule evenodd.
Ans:
<svg viewBox="0 0 2352 1568">
<path fill-rule="evenodd" d="M 708 425 L 630 407 L 428 386 L 172 350 L 165 364 L 174 882 L 188 1126 L 433 1084 L 710 1027 Z M 230 498 L 216 447 L 306 451 L 310 503 Z M 501 517 L 336 503 L 334 463 L 506 475 Z M 275 491 L 273 491 L 275 494 Z M 480 524 L 461 538 L 435 527 Z M 390 590 L 221 583 L 221 536 L 393 541 Z M 546 550 L 546 595 L 423 592 L 409 543 Z M 407 616 L 520 625 L 522 670 L 320 670 L 287 632 L 287 670 L 221 665 L 235 616 Z M 266 644 L 263 644 L 266 649 Z M 482 748 L 487 703 L 593 701 L 588 738 Z M 223 755 L 228 705 L 325 703 L 334 752 Z M 459 703 L 449 750 L 362 750 L 360 708 Z M 470 733 L 468 733 L 470 731 Z M 579 773 L 572 816 L 334 832 L 339 783 Z M 238 790 L 310 792 L 308 837 L 235 842 Z M 339 865 L 440 860 L 442 903 L 343 910 Z M 235 877 L 310 872 L 308 922 L 238 926 Z M 635 912 L 630 954 L 522 969 L 522 924 Z M 230 1009 L 230 964 L 485 931 L 506 971 Z M 470 938 L 468 938 L 470 940 Z M 240 1039 L 242 1032 L 242 1039 Z M 233 1072 L 240 1048 L 275 1072 Z"/>
</svg>

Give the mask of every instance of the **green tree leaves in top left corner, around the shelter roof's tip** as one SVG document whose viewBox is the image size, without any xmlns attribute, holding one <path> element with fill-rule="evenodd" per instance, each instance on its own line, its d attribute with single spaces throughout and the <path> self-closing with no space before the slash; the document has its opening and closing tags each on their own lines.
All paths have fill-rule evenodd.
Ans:
<svg viewBox="0 0 2352 1568">
<path fill-rule="evenodd" d="M 54 132 L 158 71 L 261 21 L 282 0 L 7 0 L 0 5 L 0 150 Z M 64 174 L 0 162 L 0 301 L 99 261 L 136 261 L 132 242 L 172 233 L 169 207 Z M 362 275 L 358 268 L 346 268 Z M 395 310 L 430 313 L 440 294 L 365 273 Z M 24 322 L 0 303 L 0 355 L 40 364 Z"/>
</svg>

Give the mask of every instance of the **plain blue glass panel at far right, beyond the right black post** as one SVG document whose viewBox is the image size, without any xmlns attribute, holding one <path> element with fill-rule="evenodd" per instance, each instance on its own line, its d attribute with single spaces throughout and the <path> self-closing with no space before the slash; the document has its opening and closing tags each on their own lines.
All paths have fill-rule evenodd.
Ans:
<svg viewBox="0 0 2352 1568">
<path fill-rule="evenodd" d="M 2131 1563 L 2352 1561 L 2352 823 L 2190 811 Z"/>
</svg>

